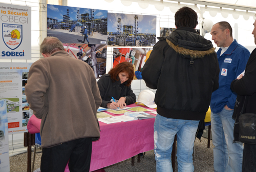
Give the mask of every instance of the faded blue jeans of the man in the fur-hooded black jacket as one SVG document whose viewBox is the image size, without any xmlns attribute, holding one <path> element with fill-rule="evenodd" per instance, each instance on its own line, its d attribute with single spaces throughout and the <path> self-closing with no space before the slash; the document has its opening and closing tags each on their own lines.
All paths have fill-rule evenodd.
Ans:
<svg viewBox="0 0 256 172">
<path fill-rule="evenodd" d="M 157 114 L 154 124 L 157 172 L 173 172 L 170 155 L 177 134 L 178 171 L 194 171 L 193 147 L 199 121 L 166 118 Z"/>
</svg>

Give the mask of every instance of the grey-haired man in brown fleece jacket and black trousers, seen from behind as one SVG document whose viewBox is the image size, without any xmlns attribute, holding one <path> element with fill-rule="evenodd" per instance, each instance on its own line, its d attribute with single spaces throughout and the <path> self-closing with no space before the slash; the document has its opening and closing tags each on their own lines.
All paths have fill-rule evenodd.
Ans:
<svg viewBox="0 0 256 172">
<path fill-rule="evenodd" d="M 99 138 L 101 104 L 92 68 L 69 56 L 56 37 L 40 46 L 44 57 L 29 70 L 25 94 L 40 127 L 41 171 L 89 171 L 92 140 Z M 96 139 L 95 139 L 96 138 Z"/>
</svg>

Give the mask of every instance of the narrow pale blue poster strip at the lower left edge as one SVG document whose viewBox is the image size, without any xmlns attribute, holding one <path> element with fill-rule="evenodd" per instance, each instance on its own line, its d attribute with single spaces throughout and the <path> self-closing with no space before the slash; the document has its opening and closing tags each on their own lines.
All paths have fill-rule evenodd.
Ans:
<svg viewBox="0 0 256 172">
<path fill-rule="evenodd" d="M 6 100 L 0 100 L 0 171 L 10 171 Z"/>
</svg>

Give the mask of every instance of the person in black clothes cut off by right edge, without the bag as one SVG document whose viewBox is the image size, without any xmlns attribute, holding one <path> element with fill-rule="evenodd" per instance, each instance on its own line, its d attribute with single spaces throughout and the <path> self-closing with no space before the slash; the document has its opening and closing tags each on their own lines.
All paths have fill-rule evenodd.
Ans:
<svg viewBox="0 0 256 172">
<path fill-rule="evenodd" d="M 256 44 L 256 20 L 254 22 L 254 43 Z M 234 141 L 239 141 L 239 116 L 244 104 L 244 112 L 256 113 L 256 49 L 254 49 L 249 57 L 245 68 L 244 76 L 241 74 L 238 79 L 231 82 L 231 90 L 238 94 L 236 104 L 234 105 L 234 113 L 232 118 L 236 120 L 234 124 Z M 246 96 L 246 99 L 245 99 Z M 256 144 L 244 144 L 243 152 L 243 172 L 256 171 Z"/>
</svg>

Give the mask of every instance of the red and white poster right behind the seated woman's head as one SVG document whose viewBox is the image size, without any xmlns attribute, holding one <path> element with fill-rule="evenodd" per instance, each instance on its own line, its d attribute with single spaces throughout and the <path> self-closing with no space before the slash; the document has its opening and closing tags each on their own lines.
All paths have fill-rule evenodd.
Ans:
<svg viewBox="0 0 256 172">
<path fill-rule="evenodd" d="M 141 70 L 152 52 L 153 48 L 113 48 L 113 68 L 123 61 L 134 65 L 134 79 L 142 79 Z"/>
</svg>

